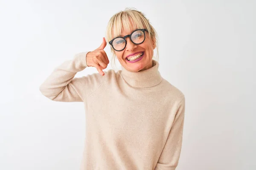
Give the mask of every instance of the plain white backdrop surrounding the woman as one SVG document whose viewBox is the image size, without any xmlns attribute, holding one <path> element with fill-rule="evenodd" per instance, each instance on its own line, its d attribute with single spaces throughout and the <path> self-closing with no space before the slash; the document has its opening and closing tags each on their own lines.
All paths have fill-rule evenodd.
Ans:
<svg viewBox="0 0 256 170">
<path fill-rule="evenodd" d="M 0 0 L 0 169 L 79 169 L 83 103 L 53 102 L 39 86 L 74 54 L 98 48 L 126 7 L 148 17 L 160 74 L 186 96 L 177 170 L 255 170 L 253 0 Z"/>
</svg>

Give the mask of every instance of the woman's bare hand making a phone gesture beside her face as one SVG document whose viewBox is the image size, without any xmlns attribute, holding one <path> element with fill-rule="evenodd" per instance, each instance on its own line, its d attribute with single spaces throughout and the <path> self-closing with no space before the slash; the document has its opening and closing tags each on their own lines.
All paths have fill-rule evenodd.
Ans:
<svg viewBox="0 0 256 170">
<path fill-rule="evenodd" d="M 87 66 L 95 67 L 102 76 L 105 75 L 102 70 L 107 68 L 107 66 L 109 64 L 108 56 L 105 53 L 105 51 L 103 50 L 106 47 L 106 45 L 107 45 L 107 42 L 106 42 L 105 38 L 103 37 L 103 42 L 99 46 L 99 48 L 87 53 L 87 55 L 86 55 Z"/>
</svg>

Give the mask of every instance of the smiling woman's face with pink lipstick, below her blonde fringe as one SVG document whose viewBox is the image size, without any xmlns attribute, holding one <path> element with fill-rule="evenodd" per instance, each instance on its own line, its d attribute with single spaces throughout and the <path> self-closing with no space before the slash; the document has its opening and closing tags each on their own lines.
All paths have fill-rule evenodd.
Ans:
<svg viewBox="0 0 256 170">
<path fill-rule="evenodd" d="M 135 30 L 135 29 L 134 29 Z M 131 32 L 122 31 L 121 36 L 131 34 Z M 138 72 L 152 67 L 152 58 L 154 48 L 156 47 L 149 34 L 145 31 L 145 41 L 141 44 L 134 44 L 130 38 L 126 38 L 127 45 L 122 51 L 115 51 L 120 64 L 128 71 Z M 143 54 L 140 56 L 140 54 Z M 134 57 L 134 58 L 133 58 Z M 139 58 L 138 58 L 139 57 Z M 136 59 L 138 58 L 138 59 Z M 129 61 L 130 59 L 131 61 Z"/>
</svg>

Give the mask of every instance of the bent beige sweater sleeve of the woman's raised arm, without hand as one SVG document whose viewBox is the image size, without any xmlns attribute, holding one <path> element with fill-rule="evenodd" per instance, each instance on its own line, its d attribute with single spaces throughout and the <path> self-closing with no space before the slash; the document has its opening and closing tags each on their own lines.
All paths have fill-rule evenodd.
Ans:
<svg viewBox="0 0 256 170">
<path fill-rule="evenodd" d="M 87 67 L 87 52 L 76 54 L 63 62 L 40 85 L 39 90 L 47 98 L 58 102 L 83 102 L 103 82 L 104 76 L 91 74 L 74 78 L 76 73 Z"/>
</svg>

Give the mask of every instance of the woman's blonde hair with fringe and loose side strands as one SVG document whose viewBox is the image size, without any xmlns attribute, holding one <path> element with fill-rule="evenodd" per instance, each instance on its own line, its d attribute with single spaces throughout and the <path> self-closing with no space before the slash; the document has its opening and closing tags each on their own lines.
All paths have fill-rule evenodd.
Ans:
<svg viewBox="0 0 256 170">
<path fill-rule="evenodd" d="M 141 11 L 137 11 L 136 8 L 125 8 L 124 11 L 120 11 L 111 17 L 111 19 L 108 22 L 107 31 L 106 31 L 107 43 L 111 41 L 114 37 L 120 36 L 123 29 L 127 32 L 134 31 L 131 26 L 137 29 L 146 28 L 148 30 L 149 38 L 153 40 L 157 48 L 157 57 L 155 60 L 158 61 L 159 54 L 158 54 L 157 32 L 154 29 L 154 27 L 151 25 L 149 20 L 145 17 L 145 15 Z M 112 46 L 111 46 L 111 53 L 113 54 L 112 57 L 114 60 L 114 64 L 116 64 L 115 50 L 112 48 Z"/>
</svg>

